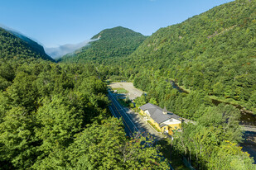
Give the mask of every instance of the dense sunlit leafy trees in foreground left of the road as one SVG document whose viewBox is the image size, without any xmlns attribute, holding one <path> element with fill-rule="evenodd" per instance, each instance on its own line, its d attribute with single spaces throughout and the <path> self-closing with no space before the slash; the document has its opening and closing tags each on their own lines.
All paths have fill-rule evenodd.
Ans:
<svg viewBox="0 0 256 170">
<path fill-rule="evenodd" d="M 1 169 L 168 168 L 152 139 L 126 137 L 94 66 L 0 63 Z"/>
</svg>

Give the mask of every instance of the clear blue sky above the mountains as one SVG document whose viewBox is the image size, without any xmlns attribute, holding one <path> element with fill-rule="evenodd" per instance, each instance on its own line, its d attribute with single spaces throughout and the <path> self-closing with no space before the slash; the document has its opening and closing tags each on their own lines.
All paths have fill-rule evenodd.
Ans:
<svg viewBox="0 0 256 170">
<path fill-rule="evenodd" d="M 105 28 L 152 35 L 230 0 L 0 0 L 0 24 L 45 45 L 75 44 Z"/>
</svg>

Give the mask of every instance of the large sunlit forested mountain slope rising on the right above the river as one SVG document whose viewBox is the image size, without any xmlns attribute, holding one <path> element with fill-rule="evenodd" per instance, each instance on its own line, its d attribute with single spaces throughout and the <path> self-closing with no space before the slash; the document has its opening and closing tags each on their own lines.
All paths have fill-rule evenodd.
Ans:
<svg viewBox="0 0 256 170">
<path fill-rule="evenodd" d="M 125 75 L 139 72 L 137 86 L 148 91 L 157 73 L 255 111 L 255 6 L 255 0 L 237 0 L 159 29 L 122 61 Z"/>
</svg>

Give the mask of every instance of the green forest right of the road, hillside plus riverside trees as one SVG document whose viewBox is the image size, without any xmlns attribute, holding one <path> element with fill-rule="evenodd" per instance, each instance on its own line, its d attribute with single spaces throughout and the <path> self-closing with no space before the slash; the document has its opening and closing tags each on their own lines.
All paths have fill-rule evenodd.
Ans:
<svg viewBox="0 0 256 170">
<path fill-rule="evenodd" d="M 239 147 L 239 110 L 215 106 L 212 99 L 256 111 L 255 4 L 229 2 L 161 28 L 125 58 L 83 57 L 99 68 L 101 78 L 132 81 L 147 92 L 137 106 L 151 102 L 195 120 L 175 134 L 172 147 L 195 168 L 254 169 L 253 159 Z M 186 92 L 178 92 L 171 81 Z"/>
</svg>

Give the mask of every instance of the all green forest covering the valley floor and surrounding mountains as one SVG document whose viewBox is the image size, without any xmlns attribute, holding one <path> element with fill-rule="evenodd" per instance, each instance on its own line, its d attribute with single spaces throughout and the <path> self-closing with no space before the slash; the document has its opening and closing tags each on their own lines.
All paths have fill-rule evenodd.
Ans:
<svg viewBox="0 0 256 170">
<path fill-rule="evenodd" d="M 234 107 L 256 113 L 255 5 L 225 3 L 151 36 L 106 29 L 58 61 L 0 28 L 0 169 L 183 169 L 184 158 L 256 169 Z M 107 97 L 107 82 L 123 80 L 147 92 L 137 108 L 166 106 L 191 123 L 157 144 L 128 137 Z"/>
</svg>

